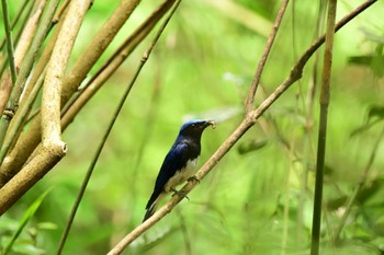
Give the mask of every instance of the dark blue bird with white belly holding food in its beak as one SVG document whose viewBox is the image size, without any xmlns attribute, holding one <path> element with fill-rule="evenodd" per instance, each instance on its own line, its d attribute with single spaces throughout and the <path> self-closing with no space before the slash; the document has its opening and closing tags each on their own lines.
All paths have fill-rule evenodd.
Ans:
<svg viewBox="0 0 384 255">
<path fill-rule="evenodd" d="M 195 178 L 194 171 L 201 152 L 201 137 L 208 126 L 215 128 L 213 120 L 193 119 L 184 123 L 169 152 L 167 153 L 155 182 L 154 192 L 147 202 L 143 222 L 151 217 L 160 200 L 170 192 L 179 193 L 176 186 L 187 179 Z"/>
</svg>

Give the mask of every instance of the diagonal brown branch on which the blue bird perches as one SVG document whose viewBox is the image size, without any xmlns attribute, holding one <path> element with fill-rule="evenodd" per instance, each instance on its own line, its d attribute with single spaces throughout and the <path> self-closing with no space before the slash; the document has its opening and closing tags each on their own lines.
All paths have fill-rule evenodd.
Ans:
<svg viewBox="0 0 384 255">
<path fill-rule="evenodd" d="M 339 21 L 336 25 L 336 31 L 340 30 L 345 24 L 351 21 L 353 18 L 359 15 L 362 11 L 368 9 L 377 0 L 368 0 L 357 9 L 354 9 L 351 13 L 345 16 L 341 21 Z M 196 173 L 196 178 L 202 179 L 205 175 L 207 175 L 211 170 L 223 159 L 223 157 L 233 148 L 233 146 L 241 138 L 241 136 L 252 126 L 255 125 L 257 118 L 259 118 L 262 113 L 264 113 L 269 106 L 272 105 L 283 93 L 286 91 L 295 81 L 301 79 L 303 68 L 305 67 L 307 60 L 310 56 L 321 46 L 324 43 L 325 36 L 319 37 L 315 43 L 313 43 L 309 48 L 302 55 L 298 61 L 293 67 L 291 74 L 285 81 L 279 85 L 274 92 L 257 108 L 253 109 L 249 115 L 245 117 L 241 124 L 236 128 L 236 130 L 227 138 L 227 140 L 217 149 L 217 151 L 204 163 L 204 165 Z M 187 183 L 181 193 L 188 195 L 195 186 L 196 182 Z M 148 220 L 139 224 L 136 229 L 129 232 L 124 239 L 122 239 L 109 253 L 109 255 L 121 254 L 123 250 L 128 246 L 134 240 L 136 240 L 140 234 L 143 234 L 146 230 L 153 227 L 156 222 L 160 221 L 167 213 L 169 213 L 184 197 L 179 195 L 172 196 L 172 198 L 161 207 L 153 217 Z"/>
</svg>

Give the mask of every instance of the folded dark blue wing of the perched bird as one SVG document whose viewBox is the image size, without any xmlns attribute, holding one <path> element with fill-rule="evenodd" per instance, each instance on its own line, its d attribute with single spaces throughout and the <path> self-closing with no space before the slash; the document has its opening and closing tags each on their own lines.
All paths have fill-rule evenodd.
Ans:
<svg viewBox="0 0 384 255">
<path fill-rule="evenodd" d="M 187 161 L 193 159 L 194 155 L 191 146 L 187 141 L 176 142 L 169 150 L 166 159 L 162 162 L 160 172 L 156 178 L 155 189 L 150 196 L 146 209 L 148 209 L 163 192 L 163 186 L 176 174 L 177 171 L 185 166 Z"/>
</svg>

